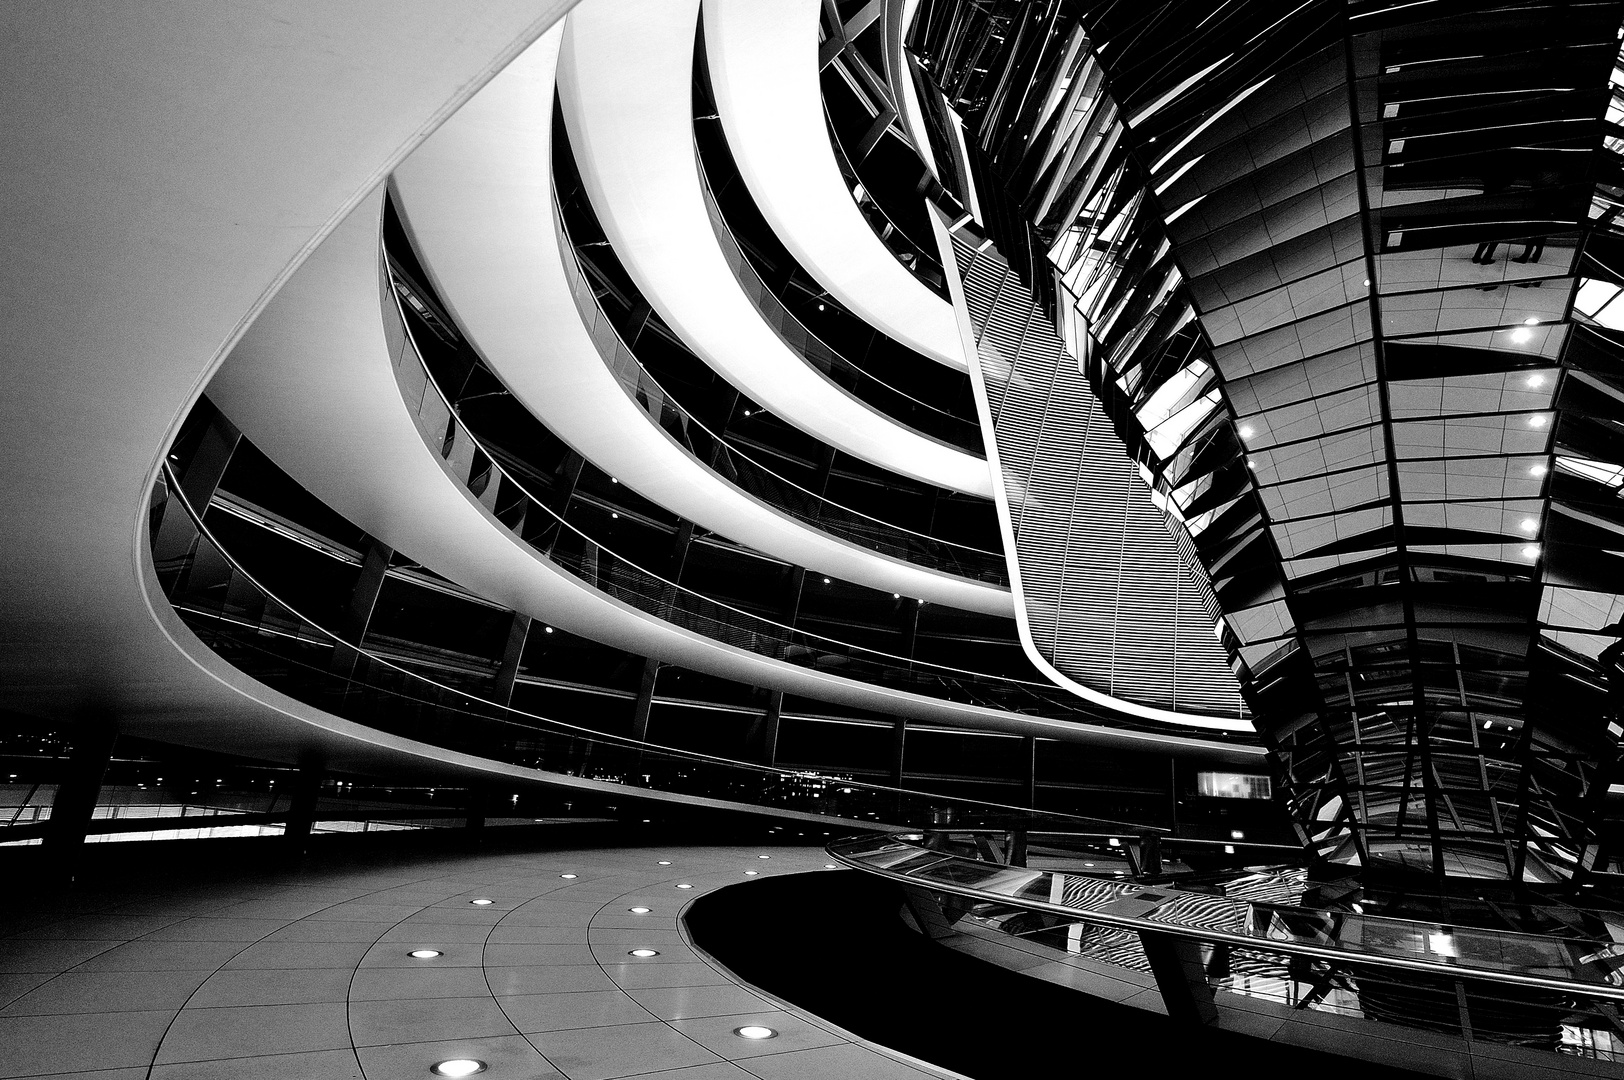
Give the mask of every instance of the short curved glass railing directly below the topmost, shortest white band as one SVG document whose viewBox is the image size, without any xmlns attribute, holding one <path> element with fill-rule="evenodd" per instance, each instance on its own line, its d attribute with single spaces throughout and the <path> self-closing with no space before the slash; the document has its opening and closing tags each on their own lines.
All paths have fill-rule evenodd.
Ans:
<svg viewBox="0 0 1624 1080">
<path fill-rule="evenodd" d="M 806 326 L 796 315 L 784 307 L 783 299 L 773 291 L 762 274 L 755 270 L 755 265 L 745 257 L 744 248 L 739 245 L 737 237 L 728 226 L 728 219 L 721 213 L 721 206 L 716 203 L 716 193 L 711 190 L 710 179 L 705 175 L 705 162 L 700 161 L 700 187 L 705 190 L 705 210 L 710 213 L 711 229 L 716 232 L 716 242 L 721 248 L 721 255 L 728 260 L 732 268 L 732 276 L 739 279 L 739 287 L 744 294 L 750 297 L 750 304 L 768 326 L 788 344 L 794 352 L 804 356 L 807 364 L 823 372 L 841 390 L 848 391 L 851 396 L 872 404 L 879 411 L 885 413 L 892 419 L 901 421 L 914 430 L 939 438 L 942 442 L 960 447 L 961 450 L 971 450 L 974 453 L 983 451 L 981 442 L 981 424 L 976 421 L 963 419 L 940 409 L 934 404 L 927 404 L 913 395 L 898 390 L 879 375 L 864 370 L 844 354 L 823 343 L 812 330 Z"/>
</svg>

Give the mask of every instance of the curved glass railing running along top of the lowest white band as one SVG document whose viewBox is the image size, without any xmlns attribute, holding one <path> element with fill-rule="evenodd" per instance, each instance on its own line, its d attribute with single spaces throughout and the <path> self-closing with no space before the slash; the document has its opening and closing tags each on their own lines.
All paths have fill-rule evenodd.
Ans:
<svg viewBox="0 0 1624 1080">
<path fill-rule="evenodd" d="M 533 495 L 453 411 L 416 348 L 398 304 L 387 305 L 395 374 L 424 442 L 503 526 L 593 588 L 663 622 L 741 650 L 859 682 L 1009 713 L 1091 721 L 1078 698 L 1054 684 L 927 664 L 796 630 L 684 588 L 598 544 Z M 641 370 L 641 369 L 638 369 Z"/>
</svg>

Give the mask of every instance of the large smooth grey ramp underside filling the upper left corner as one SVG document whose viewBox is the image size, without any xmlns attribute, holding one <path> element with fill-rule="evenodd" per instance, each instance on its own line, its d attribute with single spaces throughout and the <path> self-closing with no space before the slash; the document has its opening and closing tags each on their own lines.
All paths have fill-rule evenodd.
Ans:
<svg viewBox="0 0 1624 1080">
<path fill-rule="evenodd" d="M 567 6 L 0 5 L 6 708 L 283 762 L 310 744 L 154 622 L 153 477 L 278 284 Z"/>
</svg>

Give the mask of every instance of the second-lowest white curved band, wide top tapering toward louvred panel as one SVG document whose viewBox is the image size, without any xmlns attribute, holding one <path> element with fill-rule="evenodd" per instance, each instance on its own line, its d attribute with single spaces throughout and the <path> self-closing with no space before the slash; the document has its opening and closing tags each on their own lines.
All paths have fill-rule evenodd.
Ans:
<svg viewBox="0 0 1624 1080">
<path fill-rule="evenodd" d="M 581 323 L 552 213 L 549 34 L 395 172 L 417 253 L 460 328 L 518 400 L 637 494 L 739 544 L 932 604 L 1013 617 L 1004 585 L 830 536 L 705 468 L 627 398 Z"/>
</svg>

